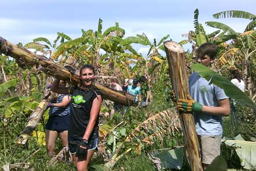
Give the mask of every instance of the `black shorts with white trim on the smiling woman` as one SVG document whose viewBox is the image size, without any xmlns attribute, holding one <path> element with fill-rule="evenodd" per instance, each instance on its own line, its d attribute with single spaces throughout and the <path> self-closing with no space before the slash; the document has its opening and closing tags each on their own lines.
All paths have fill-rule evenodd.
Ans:
<svg viewBox="0 0 256 171">
<path fill-rule="evenodd" d="M 72 137 L 68 135 L 68 147 L 70 148 L 70 153 L 76 153 L 76 147 L 81 139 Z M 88 150 L 98 151 L 98 136 L 96 133 L 93 134 L 92 138 L 88 140 Z"/>
</svg>

